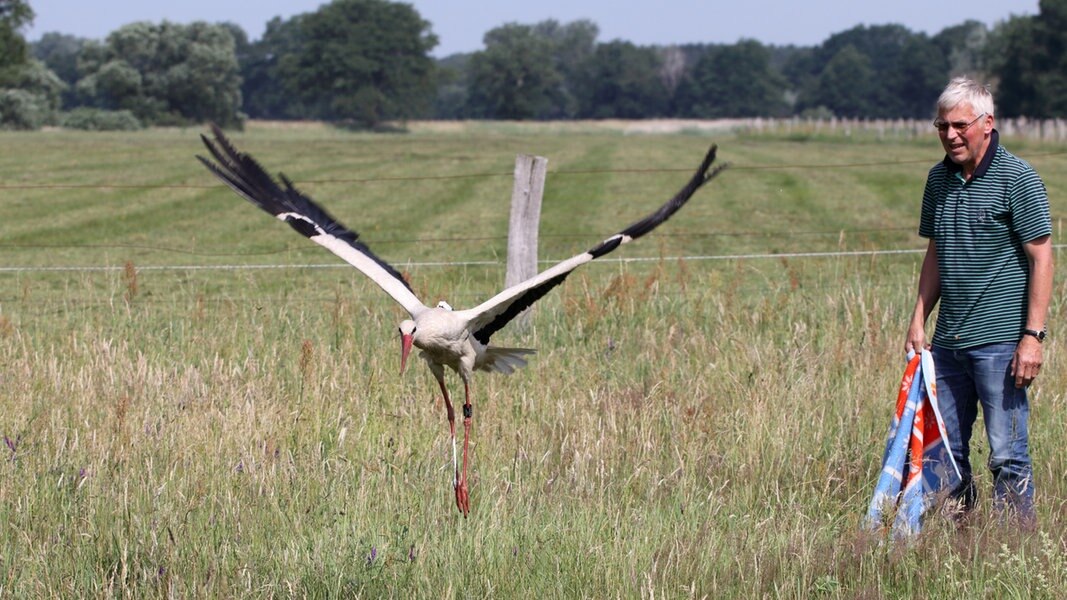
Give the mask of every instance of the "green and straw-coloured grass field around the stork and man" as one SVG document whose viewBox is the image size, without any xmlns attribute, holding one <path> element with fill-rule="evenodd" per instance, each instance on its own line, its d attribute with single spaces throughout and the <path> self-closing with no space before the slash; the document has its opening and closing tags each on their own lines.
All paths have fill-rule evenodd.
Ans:
<svg viewBox="0 0 1067 600">
<path fill-rule="evenodd" d="M 906 548 L 860 530 L 933 132 L 235 133 L 457 306 L 504 281 L 515 154 L 550 159 L 546 260 L 669 198 L 713 141 L 732 163 L 494 337 L 539 353 L 476 379 L 466 520 L 433 378 L 397 377 L 401 310 L 218 185 L 200 132 L 0 132 L 0 598 L 1067 589 L 1063 267 L 1032 391 L 1038 531 L 999 523 L 981 433 L 973 524 L 934 516 Z M 1063 243 L 1067 152 L 1005 142 L 1044 176 Z"/>
</svg>

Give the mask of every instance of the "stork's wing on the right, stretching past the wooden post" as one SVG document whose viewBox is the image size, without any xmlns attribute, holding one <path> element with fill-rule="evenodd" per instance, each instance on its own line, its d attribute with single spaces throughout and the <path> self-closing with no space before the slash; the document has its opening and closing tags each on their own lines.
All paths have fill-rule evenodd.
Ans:
<svg viewBox="0 0 1067 600">
<path fill-rule="evenodd" d="M 715 161 L 716 149 L 717 146 L 713 145 L 707 151 L 703 162 L 700 163 L 700 168 L 697 169 L 697 172 L 689 179 L 689 183 L 686 184 L 685 187 L 683 187 L 676 194 L 674 194 L 674 198 L 667 201 L 655 212 L 649 215 L 640 221 L 637 221 L 636 223 L 633 223 L 628 227 L 605 239 L 590 250 L 587 250 L 576 256 L 572 256 L 567 260 L 542 271 L 535 278 L 528 279 L 505 289 L 474 309 L 462 311 L 462 313 L 466 313 L 468 315 L 467 318 L 471 322 L 471 331 L 474 333 L 475 338 L 482 344 L 489 344 L 490 336 L 499 331 L 504 326 L 508 325 L 508 321 L 515 318 L 520 313 L 532 305 L 534 302 L 537 302 L 552 288 L 563 283 L 563 280 L 567 279 L 567 275 L 571 274 L 571 271 L 578 268 L 580 265 L 595 258 L 600 258 L 616 248 L 619 248 L 623 243 L 631 242 L 643 236 L 669 219 L 671 215 L 676 212 L 679 208 L 682 208 L 682 206 L 688 202 L 689 198 L 691 198 L 692 194 L 701 188 L 701 186 L 712 180 L 712 178 L 721 173 L 722 170 L 728 167 L 728 164 L 722 164 L 708 171 L 712 167 L 712 162 Z"/>
</svg>

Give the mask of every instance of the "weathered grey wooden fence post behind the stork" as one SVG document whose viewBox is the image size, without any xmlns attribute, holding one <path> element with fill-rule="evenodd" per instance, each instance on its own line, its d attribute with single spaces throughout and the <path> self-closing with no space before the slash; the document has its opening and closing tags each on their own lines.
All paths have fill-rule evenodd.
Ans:
<svg viewBox="0 0 1067 600">
<path fill-rule="evenodd" d="M 511 190 L 508 224 L 508 272 L 505 286 L 524 282 L 538 272 L 537 237 L 541 223 L 541 199 L 548 159 L 521 154 L 515 157 L 515 183 Z M 520 329 L 529 326 L 529 310 L 515 319 Z"/>
</svg>

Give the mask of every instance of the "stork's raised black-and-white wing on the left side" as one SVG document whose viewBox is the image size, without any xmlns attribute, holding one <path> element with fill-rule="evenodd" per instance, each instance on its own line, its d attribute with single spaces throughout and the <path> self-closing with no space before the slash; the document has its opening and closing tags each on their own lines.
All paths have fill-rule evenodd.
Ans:
<svg viewBox="0 0 1067 600">
<path fill-rule="evenodd" d="M 330 216 L 319 205 L 292 186 L 285 175 L 278 175 L 284 188 L 264 171 L 251 156 L 238 152 L 214 125 L 212 142 L 201 136 L 204 145 L 217 162 L 197 156 L 208 171 L 226 183 L 245 200 L 285 221 L 301 235 L 340 256 L 360 269 L 412 316 L 426 309 L 403 277 L 360 241 L 360 235 Z"/>
</svg>

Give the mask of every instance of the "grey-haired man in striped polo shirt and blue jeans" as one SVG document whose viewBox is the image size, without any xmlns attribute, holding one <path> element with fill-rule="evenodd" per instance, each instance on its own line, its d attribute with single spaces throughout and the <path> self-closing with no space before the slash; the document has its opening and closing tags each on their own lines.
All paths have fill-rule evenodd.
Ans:
<svg viewBox="0 0 1067 600">
<path fill-rule="evenodd" d="M 905 351 L 931 348 L 938 402 L 960 469 L 954 498 L 976 501 L 977 407 L 999 508 L 1034 522 L 1026 388 L 1041 369 L 1052 293 L 1052 221 L 1034 169 L 1000 145 L 989 91 L 953 79 L 937 102 L 945 158 L 929 171 L 919 235 L 929 239 Z M 931 345 L 925 325 L 940 300 Z"/>
</svg>

